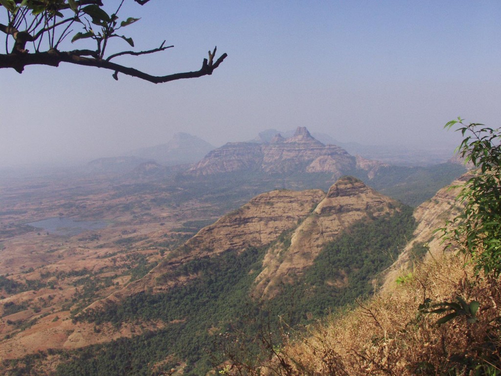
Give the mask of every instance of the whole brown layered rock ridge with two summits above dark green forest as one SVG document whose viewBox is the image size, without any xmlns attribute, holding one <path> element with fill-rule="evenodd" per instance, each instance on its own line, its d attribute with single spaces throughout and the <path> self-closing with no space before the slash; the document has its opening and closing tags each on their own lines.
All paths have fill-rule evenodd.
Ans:
<svg viewBox="0 0 501 376">
<path fill-rule="evenodd" d="M 256 279 L 255 293 L 270 298 L 275 296 L 279 282 L 291 282 L 292 277 L 301 275 L 322 247 L 352 224 L 393 213 L 398 207 L 396 201 L 351 176 L 340 178 L 327 195 L 320 190 L 265 193 L 201 229 L 145 277 L 109 299 L 120 300 L 146 290 L 167 291 L 196 278 L 196 275 L 172 278 L 172 272 L 190 260 L 226 251 L 238 254 L 248 247 L 267 245 L 271 246 L 263 261 L 263 271 Z M 89 308 L 102 303 L 96 302 Z"/>
</svg>

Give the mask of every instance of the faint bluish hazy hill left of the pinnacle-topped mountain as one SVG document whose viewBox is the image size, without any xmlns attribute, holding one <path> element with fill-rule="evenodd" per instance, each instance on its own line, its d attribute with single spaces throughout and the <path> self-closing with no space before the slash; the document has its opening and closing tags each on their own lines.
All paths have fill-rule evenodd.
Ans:
<svg viewBox="0 0 501 376">
<path fill-rule="evenodd" d="M 164 144 L 132 150 L 128 155 L 154 160 L 166 166 L 195 163 L 215 146 L 188 133 L 176 133 Z"/>
</svg>

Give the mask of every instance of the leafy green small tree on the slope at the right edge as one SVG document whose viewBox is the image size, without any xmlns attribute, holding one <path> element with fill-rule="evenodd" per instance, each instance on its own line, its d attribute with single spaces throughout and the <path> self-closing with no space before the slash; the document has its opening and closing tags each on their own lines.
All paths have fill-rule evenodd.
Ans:
<svg viewBox="0 0 501 376">
<path fill-rule="evenodd" d="M 476 169 L 462 187 L 458 200 L 464 209 L 446 231 L 449 244 L 472 258 L 475 272 L 497 278 L 501 274 L 501 133 L 483 124 L 466 125 L 463 119 L 449 121 L 445 128 L 459 125 L 464 139 L 459 154 Z"/>
</svg>

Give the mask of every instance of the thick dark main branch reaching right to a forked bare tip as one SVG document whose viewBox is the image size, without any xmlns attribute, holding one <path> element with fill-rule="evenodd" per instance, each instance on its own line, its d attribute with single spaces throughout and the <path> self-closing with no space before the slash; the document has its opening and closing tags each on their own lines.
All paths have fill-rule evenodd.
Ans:
<svg viewBox="0 0 501 376">
<path fill-rule="evenodd" d="M 59 66 L 60 63 L 71 63 L 77 65 L 84 65 L 88 67 L 104 68 L 114 71 L 113 78 L 118 80 L 118 73 L 123 73 L 128 76 L 137 77 L 145 81 L 155 84 L 180 80 L 184 78 L 196 78 L 206 75 L 211 75 L 213 70 L 227 57 L 227 54 L 222 54 L 215 63 L 212 63 L 214 51 L 209 51 L 209 60 L 203 59 L 202 67 L 198 71 L 174 73 L 167 76 L 152 76 L 150 74 L 141 72 L 134 68 L 125 67 L 123 65 L 115 64 L 107 60 L 99 59 L 95 56 L 95 51 L 91 50 L 75 50 L 60 52 L 57 50 L 49 50 L 47 52 L 39 52 L 34 54 L 29 53 L 12 53 L 0 55 L 0 68 L 13 68 L 17 72 L 22 73 L 27 65 L 49 65 L 53 67 Z M 212 56 L 211 56 L 212 55 Z"/>
</svg>

